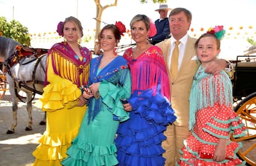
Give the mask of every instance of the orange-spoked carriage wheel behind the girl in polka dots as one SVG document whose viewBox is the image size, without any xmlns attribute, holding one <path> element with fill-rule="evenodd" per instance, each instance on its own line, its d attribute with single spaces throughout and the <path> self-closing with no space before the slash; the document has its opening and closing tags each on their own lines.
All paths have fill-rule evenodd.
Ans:
<svg viewBox="0 0 256 166">
<path fill-rule="evenodd" d="M 241 138 L 231 136 L 231 140 L 241 141 L 243 146 L 237 154 L 247 164 L 256 165 L 256 92 L 240 101 L 234 108 L 234 111 L 241 117 L 248 131 Z"/>
</svg>

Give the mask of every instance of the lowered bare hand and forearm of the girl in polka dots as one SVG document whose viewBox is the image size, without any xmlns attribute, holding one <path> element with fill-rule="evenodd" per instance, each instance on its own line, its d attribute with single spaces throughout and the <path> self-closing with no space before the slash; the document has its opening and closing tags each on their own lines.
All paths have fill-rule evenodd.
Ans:
<svg viewBox="0 0 256 166">
<path fill-rule="evenodd" d="M 220 138 L 215 148 L 213 160 L 215 160 L 216 162 L 221 162 L 226 158 L 226 146 L 227 140 L 224 138 Z"/>
</svg>

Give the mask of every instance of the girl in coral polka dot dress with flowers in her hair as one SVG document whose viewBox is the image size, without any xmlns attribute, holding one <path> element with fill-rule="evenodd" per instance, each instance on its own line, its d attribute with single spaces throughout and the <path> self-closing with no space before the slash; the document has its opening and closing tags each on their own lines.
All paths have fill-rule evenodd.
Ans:
<svg viewBox="0 0 256 166">
<path fill-rule="evenodd" d="M 177 165 L 245 165 L 236 152 L 241 143 L 230 140 L 244 135 L 241 119 L 233 111 L 232 84 L 228 74 L 207 74 L 205 68 L 220 53 L 223 26 L 210 28 L 195 42 L 197 58 L 202 63 L 190 92 L 189 128 L 192 134 L 184 140 Z"/>
</svg>

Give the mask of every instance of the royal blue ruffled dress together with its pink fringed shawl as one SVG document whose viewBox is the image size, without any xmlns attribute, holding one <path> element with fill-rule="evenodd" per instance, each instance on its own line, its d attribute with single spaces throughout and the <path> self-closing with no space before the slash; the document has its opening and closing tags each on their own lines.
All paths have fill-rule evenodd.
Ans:
<svg viewBox="0 0 256 166">
<path fill-rule="evenodd" d="M 164 165 L 166 126 L 176 120 L 169 102 L 169 79 L 161 49 L 156 46 L 143 52 L 137 59 L 132 49 L 126 50 L 132 76 L 132 106 L 130 119 L 117 130 L 116 146 L 119 165 Z"/>
</svg>

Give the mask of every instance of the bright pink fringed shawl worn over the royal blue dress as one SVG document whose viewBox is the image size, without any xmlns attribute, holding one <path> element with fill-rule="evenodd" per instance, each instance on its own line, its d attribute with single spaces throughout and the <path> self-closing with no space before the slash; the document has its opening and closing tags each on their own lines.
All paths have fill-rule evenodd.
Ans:
<svg viewBox="0 0 256 166">
<path fill-rule="evenodd" d="M 124 58 L 128 61 L 132 75 L 132 93 L 135 90 L 153 89 L 155 94 L 158 84 L 161 84 L 161 94 L 170 100 L 168 73 L 159 47 L 150 47 L 137 59 L 134 59 L 130 48 L 124 52 Z"/>
</svg>

